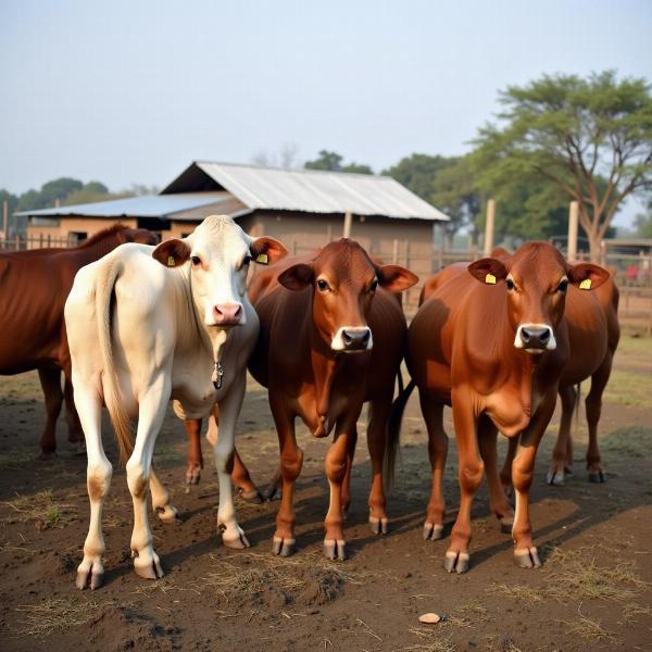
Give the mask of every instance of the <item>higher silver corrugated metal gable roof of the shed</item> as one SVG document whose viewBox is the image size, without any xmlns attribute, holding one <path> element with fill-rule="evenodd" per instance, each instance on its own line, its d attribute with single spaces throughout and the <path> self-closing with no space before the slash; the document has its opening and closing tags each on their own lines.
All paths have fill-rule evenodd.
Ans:
<svg viewBox="0 0 652 652">
<path fill-rule="evenodd" d="M 351 211 L 355 215 L 449 220 L 448 215 L 387 176 L 209 161 L 197 161 L 192 166 L 203 171 L 250 209 L 308 213 Z M 174 192 L 173 187 L 175 181 L 162 192 Z"/>
</svg>

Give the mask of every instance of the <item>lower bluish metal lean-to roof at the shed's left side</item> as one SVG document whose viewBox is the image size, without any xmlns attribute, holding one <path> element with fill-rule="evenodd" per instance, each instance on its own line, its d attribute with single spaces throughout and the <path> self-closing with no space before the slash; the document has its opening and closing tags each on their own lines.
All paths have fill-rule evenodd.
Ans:
<svg viewBox="0 0 652 652">
<path fill-rule="evenodd" d="M 179 195 L 143 195 L 95 203 L 58 206 L 39 211 L 22 211 L 16 215 L 54 217 L 88 215 L 95 217 L 167 217 L 175 213 L 228 201 L 228 192 L 183 192 Z"/>
</svg>

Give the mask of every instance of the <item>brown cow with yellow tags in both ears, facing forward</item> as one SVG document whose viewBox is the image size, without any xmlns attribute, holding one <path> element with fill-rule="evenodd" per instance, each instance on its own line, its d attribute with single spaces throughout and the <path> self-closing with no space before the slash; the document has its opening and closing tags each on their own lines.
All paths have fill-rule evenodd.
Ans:
<svg viewBox="0 0 652 652">
<path fill-rule="evenodd" d="M 439 441 L 443 428 L 437 423 L 437 413 L 444 403 L 453 409 L 461 501 L 444 568 L 457 573 L 468 568 L 471 505 L 485 464 L 492 509 L 506 505 L 498 481 L 497 430 L 507 437 L 521 435 L 512 465 L 516 492 L 512 537 L 516 562 L 531 568 L 540 566 L 540 561 L 532 544 L 528 492 L 536 451 L 554 411 L 559 381 L 569 356 L 562 318 L 566 289 L 569 284 L 594 289 L 607 280 L 609 273 L 588 263 L 569 265 L 547 242 L 525 244 L 503 261 L 482 259 L 467 268 L 469 275 L 453 274 L 424 302 L 408 336 L 411 386 L 419 388 L 430 459 L 439 475 L 446 443 Z M 404 406 L 411 386 L 399 409 Z M 438 538 L 443 501 L 432 502 L 431 498 L 425 529 L 432 526 Z"/>
</svg>

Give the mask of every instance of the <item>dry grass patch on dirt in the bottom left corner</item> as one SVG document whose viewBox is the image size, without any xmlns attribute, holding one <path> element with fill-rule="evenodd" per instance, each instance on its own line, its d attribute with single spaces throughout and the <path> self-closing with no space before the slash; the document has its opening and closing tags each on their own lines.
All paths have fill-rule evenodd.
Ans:
<svg viewBox="0 0 652 652">
<path fill-rule="evenodd" d="M 98 609 L 112 604 L 98 603 L 85 598 L 48 599 L 41 604 L 24 604 L 16 607 L 24 616 L 18 620 L 23 626 L 16 631 L 20 636 L 48 636 L 53 631 L 86 625 L 96 615 Z"/>
</svg>

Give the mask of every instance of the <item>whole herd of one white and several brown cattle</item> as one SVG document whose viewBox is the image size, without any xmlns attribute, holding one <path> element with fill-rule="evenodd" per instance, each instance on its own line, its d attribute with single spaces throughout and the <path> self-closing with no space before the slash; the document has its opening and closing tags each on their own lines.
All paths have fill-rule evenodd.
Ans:
<svg viewBox="0 0 652 652">
<path fill-rule="evenodd" d="M 609 272 L 570 264 L 546 242 L 525 244 L 513 255 L 498 249 L 492 258 L 451 265 L 429 278 L 408 328 L 401 292 L 418 280 L 409 269 L 385 265 L 347 239 L 310 255 L 286 254 L 280 242 L 251 238 L 224 216 L 208 217 L 187 238 L 158 246 L 149 231 L 118 225 L 74 249 L 0 253 L 0 374 L 38 369 L 48 415 L 43 457 L 54 453 L 64 398 L 70 440 L 86 443 L 90 526 L 77 587 L 98 588 L 104 575 L 102 505 L 112 465 L 102 447 L 103 405 L 126 461 L 138 575 L 163 575 L 148 523 L 148 489 L 159 517 L 176 518 L 152 467 L 171 399 L 188 434 L 189 482 L 199 479 L 201 419 L 209 416 L 220 482 L 217 527 L 225 546 L 249 546 L 233 494 L 235 485 L 244 498 L 260 497 L 235 449 L 248 369 L 268 390 L 278 434 L 276 554 L 290 555 L 296 547 L 294 482 L 303 461 L 297 416 L 315 437 L 334 432 L 325 461 L 330 500 L 324 552 L 343 560 L 363 403 L 371 415 L 369 524 L 385 534 L 385 487 L 401 415 L 416 387 L 432 468 L 425 539 L 443 536 L 443 406 L 453 413 L 461 501 L 444 568 L 468 569 L 471 506 L 482 474 L 491 511 L 512 532 L 516 563 L 539 566 L 528 501 L 537 448 L 560 393 L 562 419 L 548 481 L 563 484 L 573 460 L 575 386 L 589 377 L 589 478 L 604 480 L 597 426 L 619 337 L 618 293 Z M 260 267 L 247 287 L 251 262 Z M 403 360 L 411 376 L 406 387 Z M 499 430 L 510 438 L 501 472 Z M 515 511 L 507 499 L 512 488 Z"/>
</svg>

